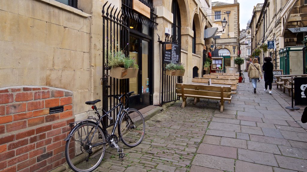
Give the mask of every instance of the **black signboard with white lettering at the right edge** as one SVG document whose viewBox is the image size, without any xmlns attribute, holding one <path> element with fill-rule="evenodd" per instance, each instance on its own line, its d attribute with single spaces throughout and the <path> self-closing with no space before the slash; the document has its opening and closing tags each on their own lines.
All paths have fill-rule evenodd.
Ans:
<svg viewBox="0 0 307 172">
<path fill-rule="evenodd" d="M 307 88 L 307 77 L 294 77 L 294 83 L 295 106 L 307 105 L 307 98 L 304 93 Z"/>
</svg>

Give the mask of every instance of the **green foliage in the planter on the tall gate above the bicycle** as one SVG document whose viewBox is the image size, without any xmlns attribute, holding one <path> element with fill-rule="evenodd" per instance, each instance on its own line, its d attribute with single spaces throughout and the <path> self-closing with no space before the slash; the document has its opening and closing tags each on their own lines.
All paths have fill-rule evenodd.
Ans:
<svg viewBox="0 0 307 172">
<path fill-rule="evenodd" d="M 106 57 L 106 56 L 105 56 Z M 138 64 L 136 64 L 134 58 L 126 57 L 122 50 L 108 52 L 108 66 L 110 67 L 121 67 L 121 68 L 133 68 L 138 69 Z"/>
</svg>

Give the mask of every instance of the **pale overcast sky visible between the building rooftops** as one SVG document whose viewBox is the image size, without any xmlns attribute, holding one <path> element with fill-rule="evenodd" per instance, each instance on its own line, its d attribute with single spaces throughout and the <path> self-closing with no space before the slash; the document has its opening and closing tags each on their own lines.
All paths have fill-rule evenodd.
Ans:
<svg viewBox="0 0 307 172">
<path fill-rule="evenodd" d="M 212 2 L 226 2 L 233 4 L 234 0 L 212 0 Z M 263 3 L 264 0 L 238 0 L 240 4 L 240 30 L 246 29 L 247 22 L 253 15 L 254 6 Z"/>
</svg>

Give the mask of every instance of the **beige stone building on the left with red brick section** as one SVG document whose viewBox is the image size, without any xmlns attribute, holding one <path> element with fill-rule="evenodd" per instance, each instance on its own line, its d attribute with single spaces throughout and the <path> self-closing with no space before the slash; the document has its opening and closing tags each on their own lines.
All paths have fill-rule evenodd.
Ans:
<svg viewBox="0 0 307 172">
<path fill-rule="evenodd" d="M 68 123 L 93 115 L 85 101 L 103 99 L 102 8 L 107 1 L 70 2 L 77 3 L 0 1 L 0 115 L 5 119 L 0 121 L 1 171 L 49 171 L 65 163 L 63 137 L 69 132 Z M 110 2 L 114 9 L 122 8 L 122 1 L 109 1 L 108 5 Z M 149 105 L 157 105 L 163 74 L 158 38 L 164 41 L 168 37 L 166 28 L 170 35 L 180 37 L 180 60 L 186 71 L 182 81 L 191 82 L 192 77 L 201 75 L 203 57 L 209 51 L 206 44 L 212 43 L 212 39 L 204 39 L 204 29 L 213 25 L 207 17 L 212 6 L 211 0 L 140 2 L 155 7 L 157 28 L 147 36 L 130 29 L 130 36 L 147 41 L 152 48 L 147 61 L 152 69 L 148 99 Z M 173 13 L 174 6 L 180 13 Z M 230 16 L 235 13 L 239 12 Z M 177 35 L 172 33 L 174 22 L 180 23 Z M 238 35 L 236 30 L 230 30 L 230 35 Z M 20 95 L 27 96 L 19 99 Z M 63 112 L 50 114 L 50 108 L 61 106 Z M 18 134 L 21 130 L 24 136 Z"/>
</svg>

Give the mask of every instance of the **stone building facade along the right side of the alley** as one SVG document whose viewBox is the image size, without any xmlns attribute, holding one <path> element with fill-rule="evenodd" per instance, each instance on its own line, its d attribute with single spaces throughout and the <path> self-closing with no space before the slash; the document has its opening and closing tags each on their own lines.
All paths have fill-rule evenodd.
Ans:
<svg viewBox="0 0 307 172">
<path fill-rule="evenodd" d="M 283 69 L 284 67 L 280 65 L 279 50 L 303 45 L 302 41 L 306 32 L 293 33 L 290 29 L 306 27 L 306 5 L 304 0 L 265 0 L 263 4 L 257 4 L 250 25 L 253 34 L 252 49 L 268 41 L 274 41 L 275 44 L 274 49 L 268 49 L 267 52 L 260 54 L 260 64 L 263 63 L 263 57 L 270 56 L 273 59 L 274 68 Z M 302 59 L 297 63 L 303 64 Z"/>
</svg>

